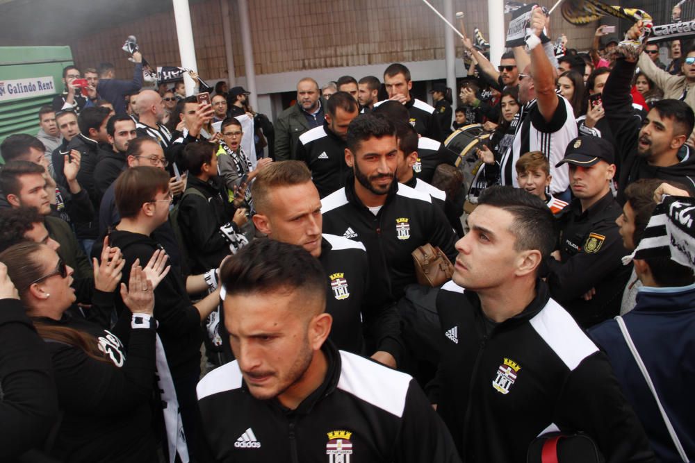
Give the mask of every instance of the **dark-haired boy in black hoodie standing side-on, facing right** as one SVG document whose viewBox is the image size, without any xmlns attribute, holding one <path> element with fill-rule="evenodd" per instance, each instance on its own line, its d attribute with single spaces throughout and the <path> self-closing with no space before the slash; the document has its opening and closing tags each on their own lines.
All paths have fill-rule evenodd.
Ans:
<svg viewBox="0 0 695 463">
<path fill-rule="evenodd" d="M 239 233 L 247 222 L 245 208 L 235 209 L 220 192 L 215 145 L 197 142 L 183 149 L 188 187 L 179 202 L 179 225 L 192 273 L 218 267 L 248 241 Z"/>
</svg>

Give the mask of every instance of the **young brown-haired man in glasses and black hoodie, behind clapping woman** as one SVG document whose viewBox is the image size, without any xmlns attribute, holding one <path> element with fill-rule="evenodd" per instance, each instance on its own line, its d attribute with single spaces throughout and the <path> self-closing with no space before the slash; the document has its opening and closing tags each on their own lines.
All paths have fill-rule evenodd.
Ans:
<svg viewBox="0 0 695 463">
<path fill-rule="evenodd" d="M 126 261 L 123 278 L 127 280 L 133 262 L 138 259 L 149 262 L 154 252 L 161 249 L 150 235 L 169 217 L 169 206 L 173 199 L 169 190 L 169 175 L 163 169 L 152 166 L 126 169 L 116 180 L 115 196 L 121 220 L 110 233 L 109 244 L 117 246 L 123 253 Z M 169 393 L 176 398 L 181 412 L 188 453 L 192 459 L 197 458 L 196 432 L 200 424 L 195 384 L 200 376 L 200 323 L 217 307 L 220 294 L 219 291 L 212 292 L 193 304 L 181 273 L 170 271 L 154 289 L 154 296 L 157 332 L 175 388 L 175 393 Z M 123 321 L 129 310 L 123 310 L 120 294 L 115 292 L 114 297 L 120 320 Z M 174 404 L 169 402 L 166 405 L 165 413 Z M 174 418 L 174 426 L 175 421 Z M 181 432 L 180 428 L 175 429 Z"/>
</svg>

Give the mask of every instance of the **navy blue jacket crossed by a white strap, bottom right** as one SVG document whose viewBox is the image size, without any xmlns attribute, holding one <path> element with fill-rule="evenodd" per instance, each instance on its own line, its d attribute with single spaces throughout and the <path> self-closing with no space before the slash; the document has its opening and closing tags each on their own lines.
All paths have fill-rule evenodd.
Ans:
<svg viewBox="0 0 695 463">
<path fill-rule="evenodd" d="M 641 287 L 637 305 L 623 315 L 632 342 L 644 361 L 660 401 L 686 455 L 695 457 L 695 415 L 684 406 L 695 381 L 695 285 Z M 605 351 L 628 402 L 663 462 L 680 461 L 671 436 L 615 320 L 589 330 Z"/>
</svg>

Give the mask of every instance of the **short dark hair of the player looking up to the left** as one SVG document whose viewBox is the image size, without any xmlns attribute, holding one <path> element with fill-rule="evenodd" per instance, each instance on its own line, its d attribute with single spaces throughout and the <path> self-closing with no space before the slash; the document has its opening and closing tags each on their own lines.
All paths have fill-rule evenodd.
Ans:
<svg viewBox="0 0 695 463">
<path fill-rule="evenodd" d="M 486 188 L 478 198 L 478 205 L 489 205 L 506 210 L 514 216 L 510 228 L 516 237 L 516 251 L 541 251 L 543 258 L 548 258 L 555 248 L 553 213 L 548 205 L 538 196 L 521 188 L 496 185 Z"/>
</svg>

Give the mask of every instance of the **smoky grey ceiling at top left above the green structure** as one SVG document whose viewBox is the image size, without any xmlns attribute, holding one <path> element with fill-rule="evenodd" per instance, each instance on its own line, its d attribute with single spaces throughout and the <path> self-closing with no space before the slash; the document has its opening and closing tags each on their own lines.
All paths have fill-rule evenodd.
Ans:
<svg viewBox="0 0 695 463">
<path fill-rule="evenodd" d="M 0 0 L 0 45 L 64 45 L 172 9 L 171 0 Z"/>
</svg>

